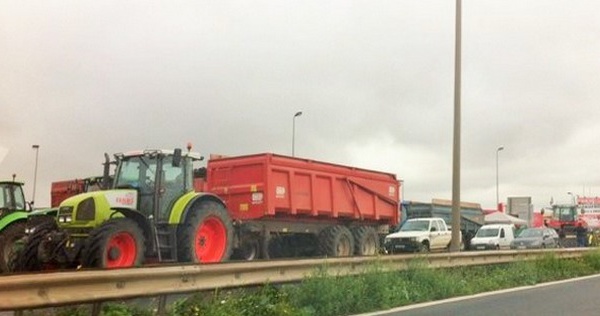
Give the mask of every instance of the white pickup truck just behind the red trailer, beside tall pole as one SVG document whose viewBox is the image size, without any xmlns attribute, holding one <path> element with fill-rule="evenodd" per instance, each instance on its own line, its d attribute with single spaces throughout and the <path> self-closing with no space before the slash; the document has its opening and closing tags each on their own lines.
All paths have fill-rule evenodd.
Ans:
<svg viewBox="0 0 600 316">
<path fill-rule="evenodd" d="M 444 250 L 450 246 L 452 231 L 440 217 L 412 218 L 404 222 L 400 229 L 385 237 L 387 253 L 428 252 Z"/>
</svg>

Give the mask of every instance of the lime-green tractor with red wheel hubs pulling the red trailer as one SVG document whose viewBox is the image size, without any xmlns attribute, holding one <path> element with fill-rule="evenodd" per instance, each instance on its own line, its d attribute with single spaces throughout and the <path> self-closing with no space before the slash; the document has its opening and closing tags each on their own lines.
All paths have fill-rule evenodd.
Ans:
<svg viewBox="0 0 600 316">
<path fill-rule="evenodd" d="M 220 262 L 231 255 L 225 204 L 195 192 L 195 161 L 181 149 L 115 155 L 112 188 L 64 200 L 57 226 L 38 226 L 16 259 L 18 270 L 124 268 L 158 262 Z"/>
</svg>

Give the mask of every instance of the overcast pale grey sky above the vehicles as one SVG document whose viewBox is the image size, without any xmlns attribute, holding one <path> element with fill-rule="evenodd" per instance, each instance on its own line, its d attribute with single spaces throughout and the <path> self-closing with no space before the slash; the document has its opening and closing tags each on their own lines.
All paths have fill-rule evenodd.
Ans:
<svg viewBox="0 0 600 316">
<path fill-rule="evenodd" d="M 452 196 L 452 0 L 0 0 L 0 178 L 49 205 L 105 152 L 259 152 Z M 600 1 L 463 0 L 463 201 L 600 195 Z M 4 158 L 4 159 L 2 159 Z"/>
</svg>

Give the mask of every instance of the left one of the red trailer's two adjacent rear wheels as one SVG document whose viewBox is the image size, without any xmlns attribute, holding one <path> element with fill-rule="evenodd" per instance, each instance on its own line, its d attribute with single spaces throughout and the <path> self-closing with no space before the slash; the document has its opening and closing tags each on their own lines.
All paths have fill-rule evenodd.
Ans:
<svg viewBox="0 0 600 316">
<path fill-rule="evenodd" d="M 328 257 L 349 257 L 354 253 L 354 238 L 346 226 L 330 226 L 319 234 L 319 249 Z"/>
</svg>

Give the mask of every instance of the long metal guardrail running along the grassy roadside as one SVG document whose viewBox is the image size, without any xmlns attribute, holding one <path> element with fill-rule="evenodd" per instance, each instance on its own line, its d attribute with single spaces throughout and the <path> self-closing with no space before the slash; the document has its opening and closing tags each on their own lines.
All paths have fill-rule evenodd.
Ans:
<svg viewBox="0 0 600 316">
<path fill-rule="evenodd" d="M 563 259 L 577 258 L 588 250 L 483 251 L 8 275 L 0 277 L 0 311 L 296 282 L 323 266 L 331 275 L 357 274 L 375 262 L 386 269 L 403 270 L 419 258 L 430 267 L 444 268 L 532 260 L 548 253 Z"/>
</svg>

